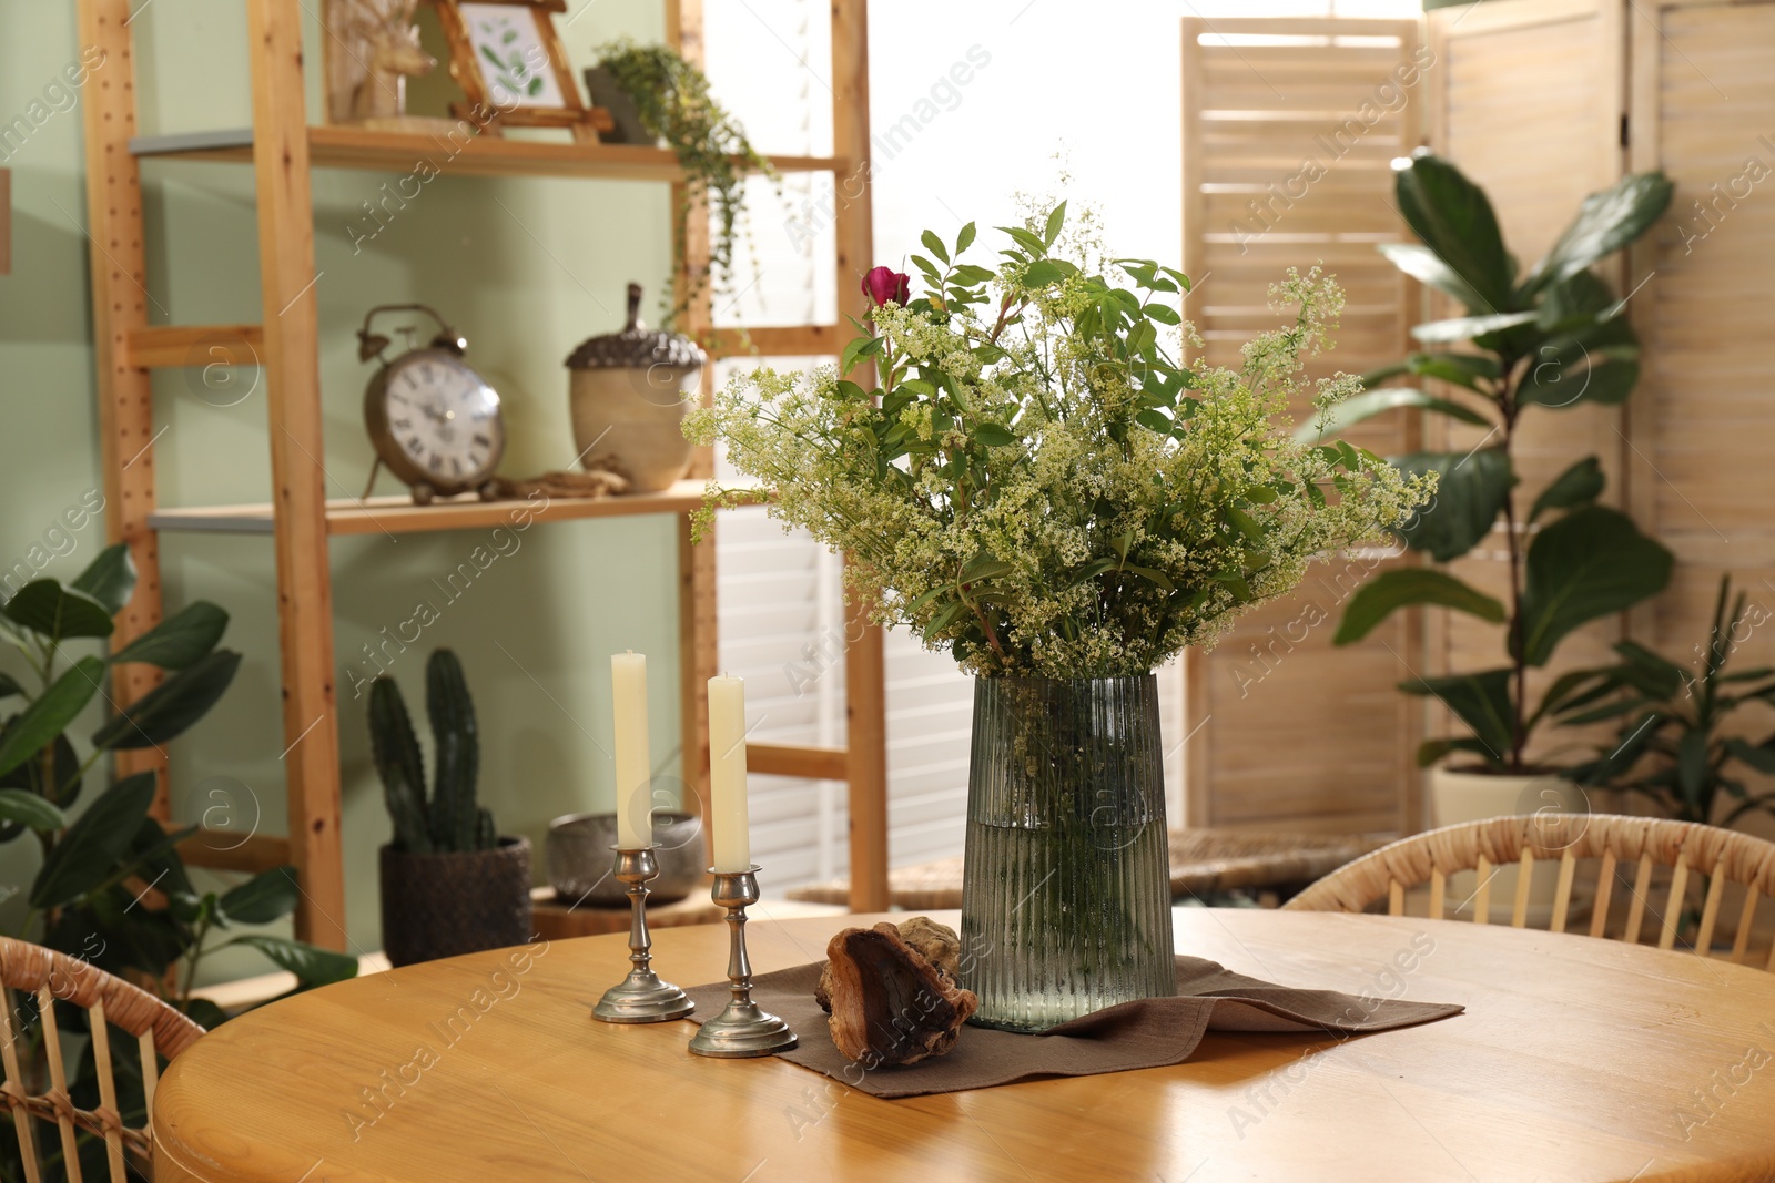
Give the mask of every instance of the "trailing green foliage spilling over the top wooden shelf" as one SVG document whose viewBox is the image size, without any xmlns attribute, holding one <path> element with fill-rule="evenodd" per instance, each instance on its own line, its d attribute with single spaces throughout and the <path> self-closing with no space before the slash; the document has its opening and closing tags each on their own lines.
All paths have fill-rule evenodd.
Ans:
<svg viewBox="0 0 1775 1183">
<path fill-rule="evenodd" d="M 763 172 L 779 179 L 770 161 L 758 154 L 746 129 L 708 92 L 708 76 L 662 44 L 635 44 L 623 37 L 600 46 L 602 67 L 635 105 L 641 126 L 660 137 L 678 154 L 685 186 L 673 225 L 676 257 L 687 257 L 690 209 L 701 200 L 715 216 L 708 243 L 708 271 L 676 268 L 671 280 L 667 323 L 676 321 L 714 284 L 733 287 L 733 243 L 746 208 L 746 174 Z"/>
</svg>

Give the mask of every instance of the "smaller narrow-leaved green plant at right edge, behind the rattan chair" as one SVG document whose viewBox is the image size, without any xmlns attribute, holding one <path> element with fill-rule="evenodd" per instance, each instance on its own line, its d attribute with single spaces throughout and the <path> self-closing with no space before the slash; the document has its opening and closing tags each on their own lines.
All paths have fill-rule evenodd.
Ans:
<svg viewBox="0 0 1775 1183">
<path fill-rule="evenodd" d="M 1747 770 L 1775 773 L 1775 733 L 1755 743 L 1724 734 L 1738 709 L 1775 704 L 1775 669 L 1725 669 L 1752 628 L 1745 594 L 1734 599 L 1732 576 L 1722 575 L 1713 626 L 1695 644 L 1693 663 L 1622 640 L 1619 665 L 1574 679 L 1558 722 L 1621 725 L 1596 759 L 1571 770 L 1573 779 L 1635 793 L 1679 821 L 1731 827 L 1754 812 L 1775 814 L 1775 793 L 1759 793 L 1745 779 Z"/>
</svg>

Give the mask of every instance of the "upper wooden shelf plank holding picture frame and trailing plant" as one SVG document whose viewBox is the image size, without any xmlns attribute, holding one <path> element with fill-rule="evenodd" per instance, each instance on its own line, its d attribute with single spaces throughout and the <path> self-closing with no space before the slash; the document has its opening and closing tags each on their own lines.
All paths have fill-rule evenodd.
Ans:
<svg viewBox="0 0 1775 1183">
<path fill-rule="evenodd" d="M 252 131 L 147 135 L 130 140 L 137 158 L 252 161 Z M 831 156 L 770 156 L 777 172 L 840 172 Z M 664 147 L 641 144 L 556 144 L 476 135 L 462 137 L 366 131 L 311 126 L 309 163 L 316 168 L 414 172 L 428 161 L 438 174 L 605 177 L 612 181 L 678 181 L 683 170 Z"/>
</svg>

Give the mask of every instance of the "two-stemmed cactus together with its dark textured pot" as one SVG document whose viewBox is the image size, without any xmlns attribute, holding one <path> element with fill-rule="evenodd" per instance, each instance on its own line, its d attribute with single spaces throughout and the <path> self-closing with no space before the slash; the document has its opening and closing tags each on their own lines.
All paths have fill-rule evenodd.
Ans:
<svg viewBox="0 0 1775 1183">
<path fill-rule="evenodd" d="M 531 841 L 501 837 L 476 802 L 481 741 L 462 663 L 449 649 L 426 662 L 437 779 L 392 678 L 369 688 L 369 743 L 394 839 L 382 848 L 382 942 L 412 965 L 531 938 Z"/>
</svg>

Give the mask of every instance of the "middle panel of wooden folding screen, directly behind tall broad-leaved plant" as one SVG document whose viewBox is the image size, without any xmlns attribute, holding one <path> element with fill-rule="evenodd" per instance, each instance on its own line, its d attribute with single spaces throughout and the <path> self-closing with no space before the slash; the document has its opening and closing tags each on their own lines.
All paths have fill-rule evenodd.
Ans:
<svg viewBox="0 0 1775 1183">
<path fill-rule="evenodd" d="M 1622 174 L 1622 2 L 1489 0 L 1438 9 L 1429 14 L 1429 43 L 1436 55 L 1429 74 L 1431 144 L 1486 188 L 1503 239 L 1526 270 L 1571 222 L 1583 197 Z M 1624 291 L 1619 261 L 1601 273 L 1617 293 Z M 1431 303 L 1436 316 L 1454 314 L 1445 300 Z M 1528 505 L 1555 475 L 1589 454 L 1608 474 L 1603 500 L 1622 505 L 1622 427 L 1621 410 L 1594 404 L 1523 415 L 1514 442 L 1518 505 Z M 1436 417 L 1427 435 L 1431 447 L 1464 450 L 1477 447 L 1486 431 Z M 1509 587 L 1503 525 L 1450 569 L 1503 598 Z M 1507 663 L 1496 626 L 1448 612 L 1427 615 L 1432 672 Z M 1567 639 L 1555 663 L 1532 674 L 1530 701 L 1558 670 L 1612 662 L 1608 646 L 1619 635 L 1617 621 L 1603 621 Z M 1431 715 L 1440 734 L 1447 727 L 1445 711 L 1436 708 Z M 1542 734 L 1537 750 L 1569 745 L 1571 738 L 1571 733 Z"/>
</svg>

